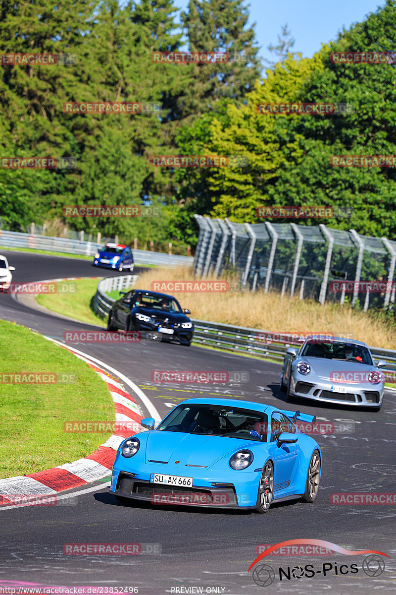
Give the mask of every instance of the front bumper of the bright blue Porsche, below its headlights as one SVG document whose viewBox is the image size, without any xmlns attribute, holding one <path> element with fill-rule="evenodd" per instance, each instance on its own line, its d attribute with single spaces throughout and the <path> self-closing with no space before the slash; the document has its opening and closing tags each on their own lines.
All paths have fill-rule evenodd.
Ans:
<svg viewBox="0 0 396 595">
<path fill-rule="evenodd" d="M 121 459 L 121 460 L 120 460 Z M 208 469 L 189 467 L 179 469 L 176 466 L 144 464 L 134 468 L 134 472 L 126 471 L 129 464 L 119 468 L 122 458 L 115 461 L 112 472 L 110 493 L 135 500 L 146 500 L 154 505 L 190 505 L 220 508 L 255 508 L 258 496 L 259 481 L 262 469 L 245 469 L 243 471 L 218 472 Z M 167 486 L 151 483 L 152 473 L 165 473 L 192 477 L 192 487 Z"/>
</svg>

